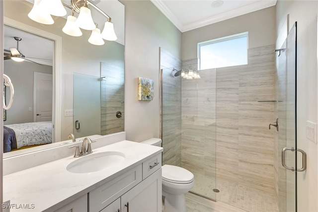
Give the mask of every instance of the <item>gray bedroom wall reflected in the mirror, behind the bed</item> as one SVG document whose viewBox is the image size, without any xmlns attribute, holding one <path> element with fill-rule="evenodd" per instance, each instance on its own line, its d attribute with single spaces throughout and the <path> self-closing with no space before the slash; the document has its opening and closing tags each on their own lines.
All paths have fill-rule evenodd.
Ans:
<svg viewBox="0 0 318 212">
<path fill-rule="evenodd" d="M 51 66 L 41 66 L 30 62 L 14 62 L 5 60 L 4 73 L 8 75 L 14 86 L 14 104 L 6 111 L 4 125 L 33 122 L 33 73 L 51 73 Z M 6 90 L 6 104 L 9 101 L 9 88 Z M 32 111 L 29 111 L 29 107 Z"/>
</svg>

